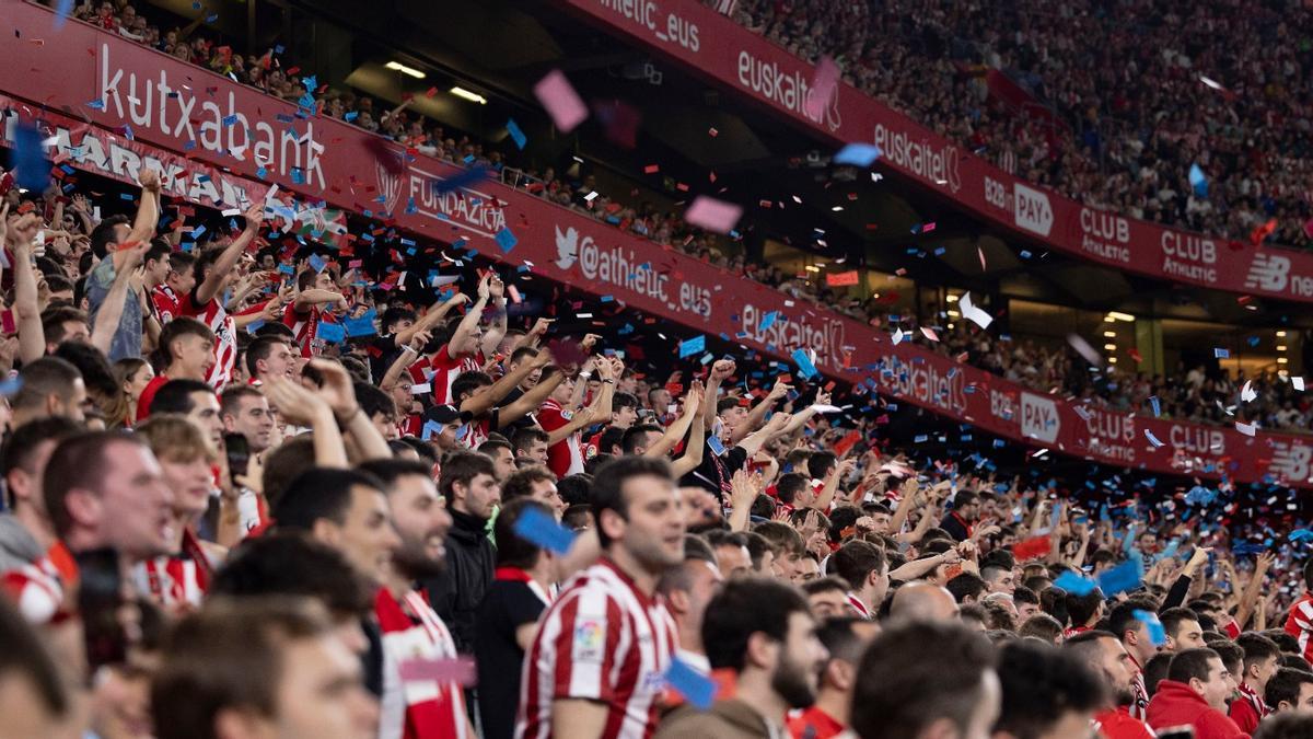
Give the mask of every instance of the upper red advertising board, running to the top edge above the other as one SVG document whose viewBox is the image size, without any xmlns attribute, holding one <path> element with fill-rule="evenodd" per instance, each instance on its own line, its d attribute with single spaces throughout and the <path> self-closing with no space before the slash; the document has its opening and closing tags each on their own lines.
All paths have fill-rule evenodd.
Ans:
<svg viewBox="0 0 1313 739">
<path fill-rule="evenodd" d="M 1313 254 L 1255 249 L 1085 206 L 994 167 L 846 83 L 829 105 L 809 116 L 814 67 L 699 0 L 563 3 L 821 139 L 877 145 L 894 172 L 1054 250 L 1175 283 L 1313 302 Z"/>
</svg>

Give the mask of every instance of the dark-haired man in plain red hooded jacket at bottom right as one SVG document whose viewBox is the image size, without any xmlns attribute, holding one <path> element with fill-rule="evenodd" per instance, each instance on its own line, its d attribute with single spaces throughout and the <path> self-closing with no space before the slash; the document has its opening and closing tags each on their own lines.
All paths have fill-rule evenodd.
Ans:
<svg viewBox="0 0 1313 739">
<path fill-rule="evenodd" d="M 1207 647 L 1178 650 L 1167 667 L 1167 679 L 1149 701 L 1149 726 L 1158 731 L 1190 725 L 1196 739 L 1247 736 L 1224 713 L 1234 690 L 1236 681 L 1217 652 Z"/>
</svg>

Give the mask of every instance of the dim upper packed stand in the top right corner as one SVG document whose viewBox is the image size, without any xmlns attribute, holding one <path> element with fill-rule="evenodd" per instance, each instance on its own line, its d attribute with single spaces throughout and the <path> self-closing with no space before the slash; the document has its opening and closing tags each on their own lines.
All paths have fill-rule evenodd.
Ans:
<svg viewBox="0 0 1313 739">
<path fill-rule="evenodd" d="M 1241 242 L 1275 220 L 1271 242 L 1313 243 L 1300 3 L 737 0 L 730 17 L 1073 200 Z M 991 95 L 990 71 L 1025 109 Z"/>
</svg>

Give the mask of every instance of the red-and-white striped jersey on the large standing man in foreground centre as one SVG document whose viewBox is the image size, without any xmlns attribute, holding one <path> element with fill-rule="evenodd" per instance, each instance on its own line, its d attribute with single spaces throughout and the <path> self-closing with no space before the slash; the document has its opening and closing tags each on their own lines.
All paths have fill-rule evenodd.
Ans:
<svg viewBox="0 0 1313 739">
<path fill-rule="evenodd" d="M 660 598 L 639 592 L 609 559 L 571 580 L 542 615 L 524 661 L 516 739 L 548 739 L 553 701 L 608 707 L 603 739 L 651 736 L 678 644 Z"/>
</svg>

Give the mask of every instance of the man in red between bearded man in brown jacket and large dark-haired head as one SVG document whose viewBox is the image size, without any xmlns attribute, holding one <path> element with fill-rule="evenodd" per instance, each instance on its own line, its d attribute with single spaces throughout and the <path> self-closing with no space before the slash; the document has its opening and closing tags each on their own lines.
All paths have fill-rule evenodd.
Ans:
<svg viewBox="0 0 1313 739">
<path fill-rule="evenodd" d="M 815 614 L 814 608 L 811 613 Z M 880 626 L 864 618 L 838 617 L 821 622 L 817 639 L 830 659 L 821 668 L 815 703 L 789 719 L 789 734 L 813 739 L 831 739 L 843 734 L 852 713 L 857 661 L 878 632 Z"/>
</svg>

